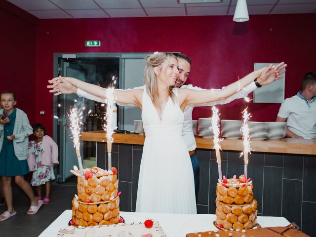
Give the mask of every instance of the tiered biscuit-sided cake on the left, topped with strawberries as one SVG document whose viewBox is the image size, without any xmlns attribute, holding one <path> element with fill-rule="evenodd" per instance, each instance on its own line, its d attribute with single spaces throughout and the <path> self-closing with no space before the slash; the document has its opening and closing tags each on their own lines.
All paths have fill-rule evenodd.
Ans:
<svg viewBox="0 0 316 237">
<path fill-rule="evenodd" d="M 75 226 L 110 225 L 120 222 L 117 169 L 98 167 L 71 170 L 78 176 L 78 195 L 73 198 L 72 221 Z"/>
</svg>

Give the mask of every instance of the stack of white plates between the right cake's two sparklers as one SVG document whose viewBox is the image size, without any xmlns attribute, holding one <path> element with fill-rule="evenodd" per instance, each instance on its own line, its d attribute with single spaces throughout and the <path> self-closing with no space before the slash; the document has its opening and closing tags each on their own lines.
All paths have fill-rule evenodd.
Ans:
<svg viewBox="0 0 316 237">
<path fill-rule="evenodd" d="M 242 137 L 241 126 L 241 120 L 221 119 L 221 136 L 226 139 L 238 139 Z"/>
</svg>

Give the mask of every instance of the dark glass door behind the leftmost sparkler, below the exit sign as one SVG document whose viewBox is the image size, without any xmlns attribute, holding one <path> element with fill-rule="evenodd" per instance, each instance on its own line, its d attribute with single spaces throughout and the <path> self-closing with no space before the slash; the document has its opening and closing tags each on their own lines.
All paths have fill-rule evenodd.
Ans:
<svg viewBox="0 0 316 237">
<path fill-rule="evenodd" d="M 96 57 L 98 56 L 98 57 Z M 73 77 L 82 81 L 108 87 L 112 84 L 112 78 L 117 79 L 114 85 L 119 86 L 120 56 L 118 54 L 89 55 L 67 54 L 54 55 L 55 76 Z M 57 170 L 57 182 L 65 182 L 73 175 L 69 172 L 74 165 L 78 165 L 78 159 L 74 148 L 68 117 L 70 108 L 82 108 L 81 131 L 102 130 L 105 116 L 105 106 L 102 103 L 87 100 L 76 94 L 62 94 L 54 98 L 54 139 L 59 146 L 59 169 Z M 80 154 L 83 167 L 96 165 L 96 143 L 81 141 Z"/>
</svg>

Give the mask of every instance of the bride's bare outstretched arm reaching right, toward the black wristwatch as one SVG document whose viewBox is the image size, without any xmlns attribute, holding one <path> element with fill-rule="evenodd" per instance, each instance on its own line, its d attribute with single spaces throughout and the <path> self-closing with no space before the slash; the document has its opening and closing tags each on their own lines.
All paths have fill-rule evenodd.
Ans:
<svg viewBox="0 0 316 237">
<path fill-rule="evenodd" d="M 259 83 L 262 82 L 262 85 L 269 84 L 272 81 L 282 78 L 280 75 L 285 72 L 286 66 L 287 65 L 284 64 L 284 62 L 276 66 L 270 65 L 264 70 L 257 70 L 248 74 L 244 78 L 224 87 L 222 90 L 211 89 L 204 91 L 195 91 L 190 89 L 179 89 L 179 102 L 181 108 L 185 108 L 187 105 L 190 104 L 203 104 L 225 99 L 235 94 L 237 91 L 248 85 L 254 79 L 257 79 Z"/>
</svg>

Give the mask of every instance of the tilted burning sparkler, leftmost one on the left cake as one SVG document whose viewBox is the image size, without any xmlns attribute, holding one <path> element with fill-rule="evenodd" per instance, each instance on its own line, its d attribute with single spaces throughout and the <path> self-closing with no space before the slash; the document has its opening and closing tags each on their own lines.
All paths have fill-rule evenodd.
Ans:
<svg viewBox="0 0 316 237">
<path fill-rule="evenodd" d="M 74 141 L 74 147 L 76 148 L 76 154 L 78 158 L 78 163 L 79 163 L 79 170 L 80 174 L 83 175 L 83 167 L 82 167 L 82 160 L 80 156 L 80 142 L 79 142 L 79 136 L 80 136 L 80 126 L 82 125 L 82 122 L 79 118 L 79 111 L 77 108 L 73 108 L 70 111 L 70 129 L 73 134 L 73 141 Z"/>
</svg>

